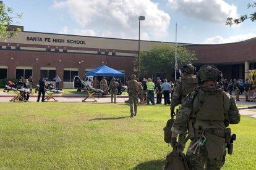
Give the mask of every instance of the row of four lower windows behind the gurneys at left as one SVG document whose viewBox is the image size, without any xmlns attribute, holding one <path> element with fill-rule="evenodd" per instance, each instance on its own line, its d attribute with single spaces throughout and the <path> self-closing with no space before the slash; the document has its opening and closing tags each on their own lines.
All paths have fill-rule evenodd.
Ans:
<svg viewBox="0 0 256 170">
<path fill-rule="evenodd" d="M 40 70 L 40 75 L 43 76 L 46 81 L 54 81 L 53 79 L 56 78 L 56 70 Z M 16 69 L 16 79 L 19 79 L 20 76 L 28 78 L 29 76 L 33 76 L 33 71 L 31 69 Z M 78 71 L 64 70 L 63 81 L 72 82 L 75 76 L 78 76 Z M 8 69 L 0 68 L 0 79 L 4 78 L 8 78 Z"/>
</svg>

